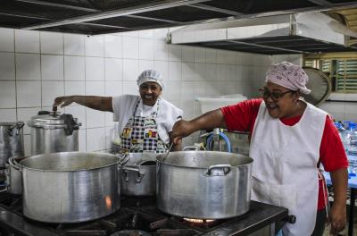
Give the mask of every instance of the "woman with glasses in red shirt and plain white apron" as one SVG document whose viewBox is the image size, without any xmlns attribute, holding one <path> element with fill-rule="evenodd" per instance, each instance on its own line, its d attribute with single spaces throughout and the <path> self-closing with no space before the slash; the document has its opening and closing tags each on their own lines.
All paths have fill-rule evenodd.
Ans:
<svg viewBox="0 0 357 236">
<path fill-rule="evenodd" d="M 292 63 L 272 65 L 263 99 L 248 100 L 177 122 L 174 141 L 200 130 L 216 127 L 250 131 L 253 157 L 252 199 L 285 206 L 296 215 L 286 223 L 284 235 L 322 235 L 326 223 L 327 196 L 319 181 L 319 165 L 331 173 L 335 201 L 329 221 L 331 233 L 345 228 L 348 162 L 345 150 L 328 114 L 306 103 L 302 94 L 308 77 Z"/>
</svg>

